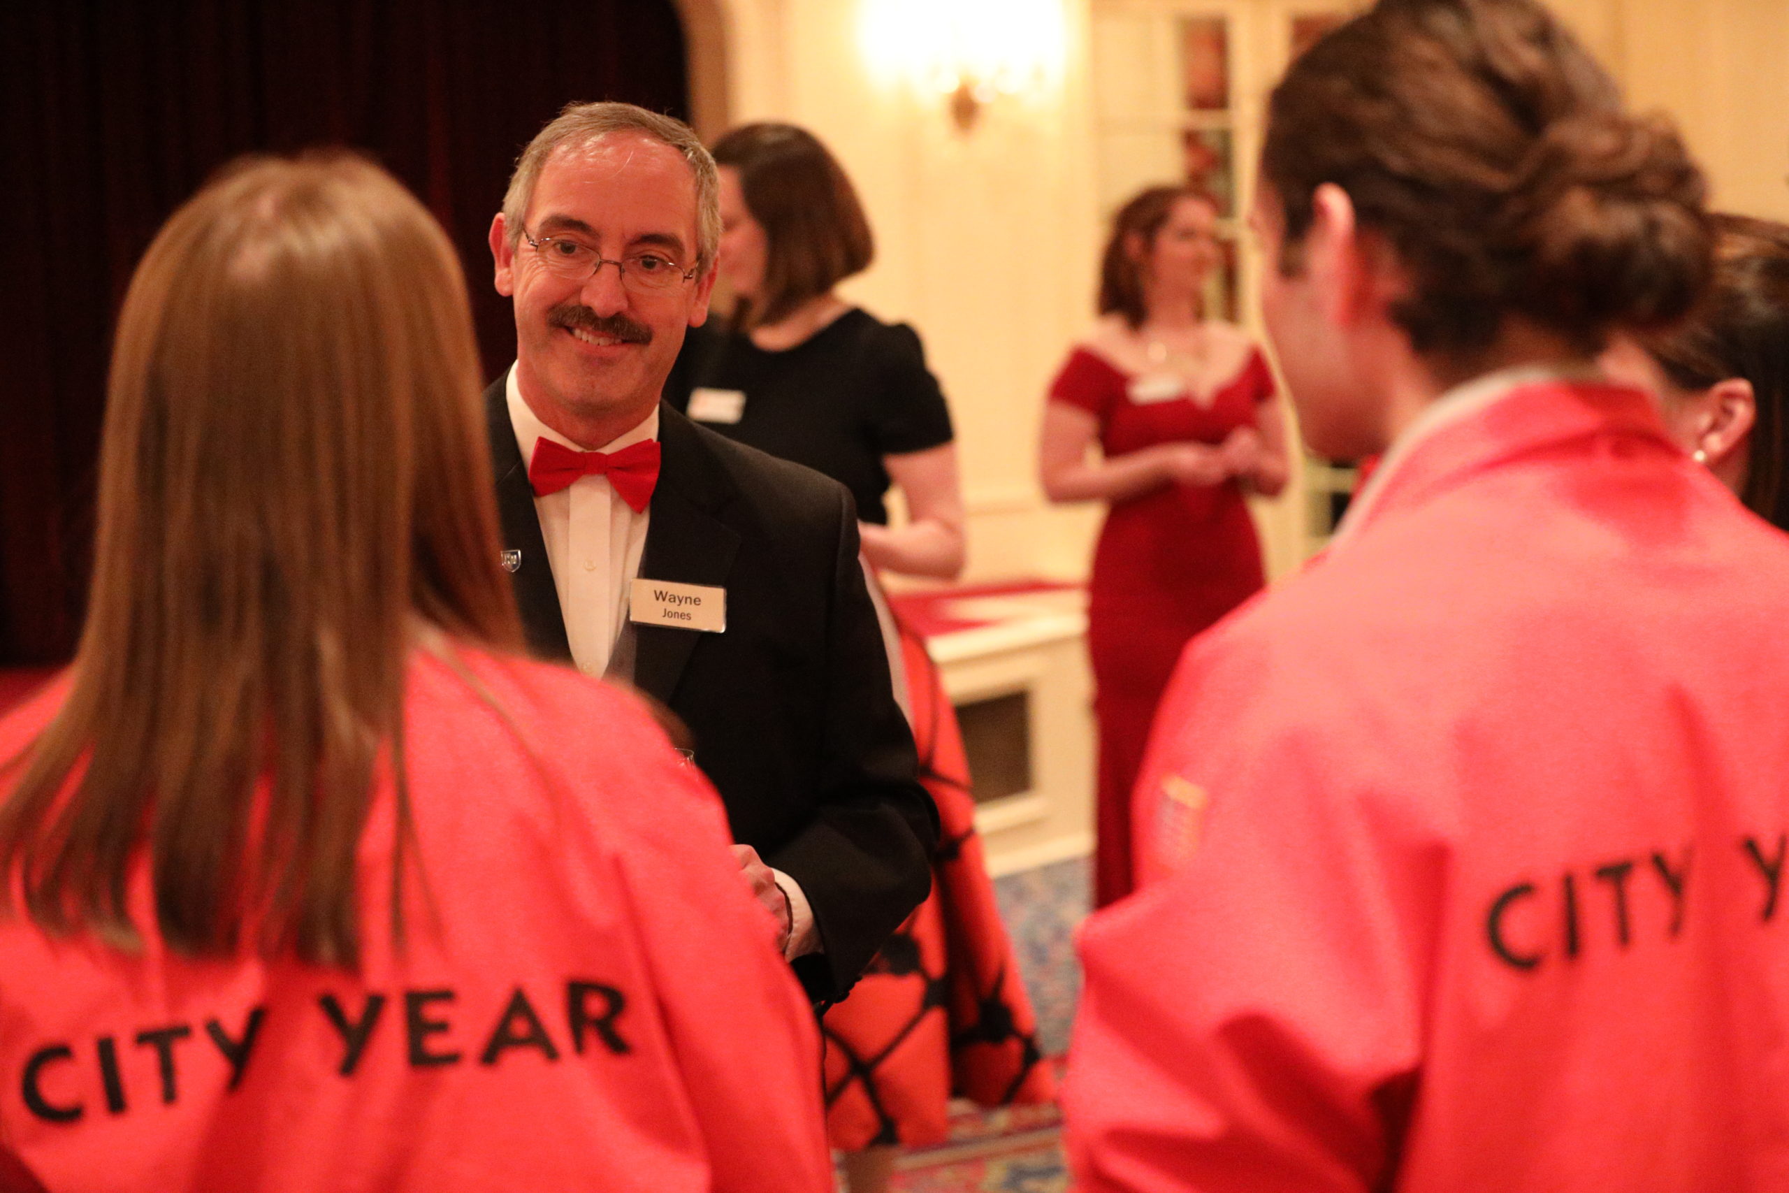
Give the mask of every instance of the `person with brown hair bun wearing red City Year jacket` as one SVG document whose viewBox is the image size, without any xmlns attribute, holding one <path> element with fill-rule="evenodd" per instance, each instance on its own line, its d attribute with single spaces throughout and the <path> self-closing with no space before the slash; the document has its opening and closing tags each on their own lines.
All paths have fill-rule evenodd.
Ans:
<svg viewBox="0 0 1789 1193">
<path fill-rule="evenodd" d="M 1789 538 L 1605 381 L 1710 275 L 1533 0 L 1381 0 L 1251 216 L 1329 549 L 1184 655 L 1081 935 L 1086 1193 L 1789 1188 Z"/>
</svg>

